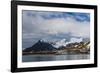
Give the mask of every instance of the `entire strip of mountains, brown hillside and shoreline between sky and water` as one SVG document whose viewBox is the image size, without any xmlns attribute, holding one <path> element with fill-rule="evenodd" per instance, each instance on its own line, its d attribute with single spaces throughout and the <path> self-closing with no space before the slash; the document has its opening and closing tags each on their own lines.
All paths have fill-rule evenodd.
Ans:
<svg viewBox="0 0 100 73">
<path fill-rule="evenodd" d="M 60 41 L 50 42 L 39 40 L 33 46 L 23 50 L 23 55 L 29 54 L 65 54 L 69 53 L 89 53 L 89 40 L 83 38 L 71 38 L 69 41 L 62 39 Z"/>
</svg>

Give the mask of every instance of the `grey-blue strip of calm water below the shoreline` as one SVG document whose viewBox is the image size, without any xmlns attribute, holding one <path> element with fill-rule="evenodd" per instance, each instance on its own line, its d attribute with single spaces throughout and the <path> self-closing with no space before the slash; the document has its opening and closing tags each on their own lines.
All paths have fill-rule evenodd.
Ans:
<svg viewBox="0 0 100 73">
<path fill-rule="evenodd" d="M 75 55 L 24 55 L 22 62 L 57 61 L 57 60 L 81 60 L 89 59 L 89 54 Z"/>
</svg>

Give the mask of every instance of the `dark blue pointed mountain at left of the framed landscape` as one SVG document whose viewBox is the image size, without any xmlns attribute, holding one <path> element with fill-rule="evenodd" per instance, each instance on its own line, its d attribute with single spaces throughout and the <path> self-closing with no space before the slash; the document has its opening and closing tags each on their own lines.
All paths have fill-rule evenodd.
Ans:
<svg viewBox="0 0 100 73">
<path fill-rule="evenodd" d="M 35 43 L 32 47 L 26 48 L 23 52 L 30 52 L 30 51 L 54 51 L 56 50 L 50 43 L 45 42 L 44 40 L 39 40 Z"/>
</svg>

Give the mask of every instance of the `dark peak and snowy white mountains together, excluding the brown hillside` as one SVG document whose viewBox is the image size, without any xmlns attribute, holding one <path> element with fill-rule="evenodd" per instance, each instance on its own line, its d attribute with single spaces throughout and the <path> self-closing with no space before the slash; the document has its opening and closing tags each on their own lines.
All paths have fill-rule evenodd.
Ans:
<svg viewBox="0 0 100 73">
<path fill-rule="evenodd" d="M 66 39 L 62 39 L 56 42 L 48 42 L 46 40 L 39 40 L 33 46 L 24 49 L 23 52 L 55 51 L 55 50 L 62 49 L 61 47 L 66 47 L 67 45 L 71 43 L 80 43 L 83 41 L 85 42 L 86 40 L 84 40 L 83 38 L 71 38 L 70 41 L 67 41 Z"/>
</svg>

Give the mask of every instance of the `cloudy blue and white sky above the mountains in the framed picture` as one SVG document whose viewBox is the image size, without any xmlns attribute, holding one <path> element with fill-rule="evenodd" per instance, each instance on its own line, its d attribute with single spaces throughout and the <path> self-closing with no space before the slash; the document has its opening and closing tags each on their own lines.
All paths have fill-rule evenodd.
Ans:
<svg viewBox="0 0 100 73">
<path fill-rule="evenodd" d="M 22 12 L 23 48 L 38 40 L 57 41 L 70 37 L 90 37 L 90 14 L 75 12 Z"/>
</svg>

